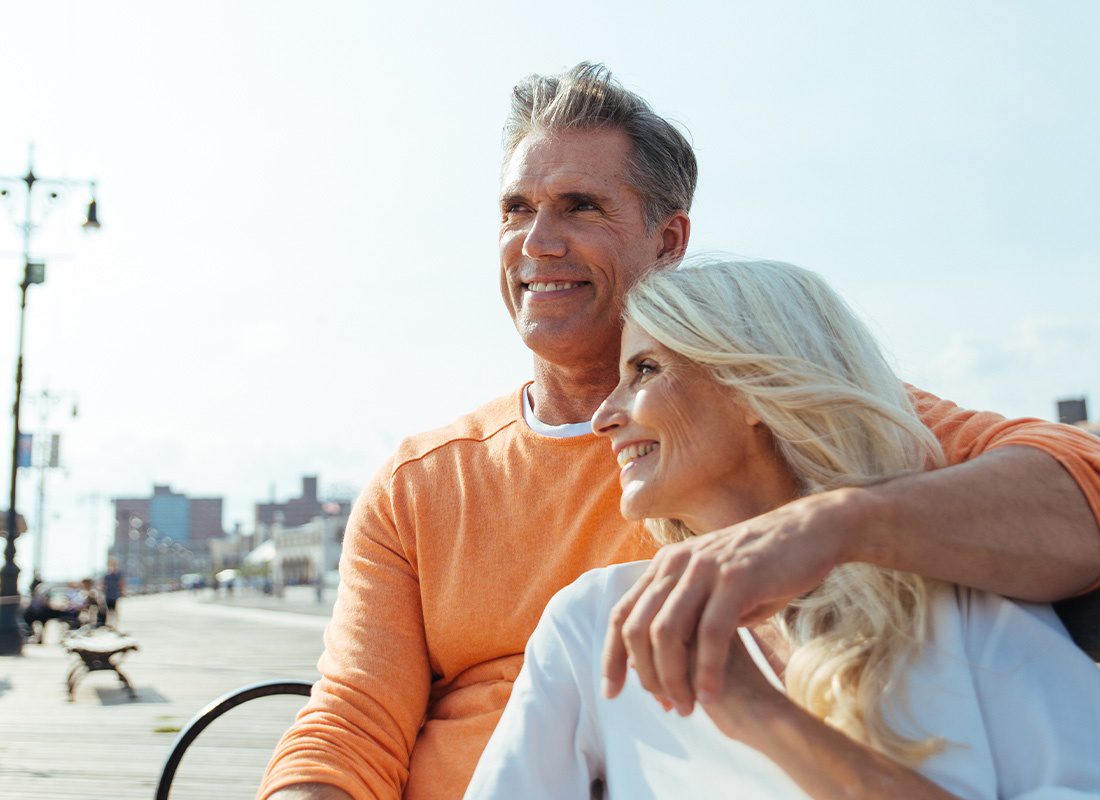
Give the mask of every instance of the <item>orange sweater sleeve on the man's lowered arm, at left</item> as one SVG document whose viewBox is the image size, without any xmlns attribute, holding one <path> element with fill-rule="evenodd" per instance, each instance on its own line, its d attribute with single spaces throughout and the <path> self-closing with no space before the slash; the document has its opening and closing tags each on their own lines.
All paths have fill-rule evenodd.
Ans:
<svg viewBox="0 0 1100 800">
<path fill-rule="evenodd" d="M 295 783 L 397 800 L 431 680 L 420 587 L 394 523 L 388 465 L 352 512 L 320 681 L 267 766 L 258 798 Z"/>
</svg>

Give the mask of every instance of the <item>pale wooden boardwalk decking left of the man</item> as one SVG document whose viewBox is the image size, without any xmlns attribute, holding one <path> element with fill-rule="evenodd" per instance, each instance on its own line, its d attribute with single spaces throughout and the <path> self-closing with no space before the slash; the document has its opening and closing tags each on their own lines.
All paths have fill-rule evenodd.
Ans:
<svg viewBox="0 0 1100 800">
<path fill-rule="evenodd" d="M 317 678 L 324 616 L 183 593 L 125 598 L 120 611 L 141 647 L 123 662 L 136 700 L 111 672 L 92 672 L 69 702 L 73 658 L 57 644 L 59 627 L 21 657 L 0 657 L 0 798 L 150 800 L 178 728 L 210 700 L 258 680 Z M 264 698 L 216 722 L 184 758 L 173 800 L 254 797 L 302 702 Z"/>
</svg>

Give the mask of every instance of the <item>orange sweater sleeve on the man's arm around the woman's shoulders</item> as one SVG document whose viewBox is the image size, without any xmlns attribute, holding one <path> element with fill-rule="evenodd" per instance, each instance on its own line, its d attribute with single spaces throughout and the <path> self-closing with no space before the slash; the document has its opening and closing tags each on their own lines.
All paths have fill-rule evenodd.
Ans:
<svg viewBox="0 0 1100 800">
<path fill-rule="evenodd" d="M 967 410 L 915 386 L 908 388 L 921 419 L 939 439 L 948 463 L 968 461 L 997 447 L 1037 448 L 1057 459 L 1072 476 L 1100 526 L 1100 437 L 1071 425 Z"/>
</svg>

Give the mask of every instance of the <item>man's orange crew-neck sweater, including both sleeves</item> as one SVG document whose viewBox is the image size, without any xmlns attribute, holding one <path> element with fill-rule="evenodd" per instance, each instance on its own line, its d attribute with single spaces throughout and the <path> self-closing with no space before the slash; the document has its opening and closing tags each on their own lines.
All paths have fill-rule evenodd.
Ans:
<svg viewBox="0 0 1100 800">
<path fill-rule="evenodd" d="M 950 462 L 1038 447 L 1100 518 L 1094 437 L 912 394 Z M 348 524 L 321 680 L 260 797 L 316 781 L 356 800 L 460 798 L 549 599 L 590 569 L 652 555 L 618 514 L 617 478 L 603 439 L 528 428 L 518 392 L 405 440 Z"/>
</svg>

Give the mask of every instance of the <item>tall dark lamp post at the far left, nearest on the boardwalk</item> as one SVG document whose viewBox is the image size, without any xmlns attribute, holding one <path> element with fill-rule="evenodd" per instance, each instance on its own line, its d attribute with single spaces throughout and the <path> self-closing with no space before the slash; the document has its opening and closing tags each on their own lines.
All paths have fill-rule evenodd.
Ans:
<svg viewBox="0 0 1100 800">
<path fill-rule="evenodd" d="M 75 178 L 40 178 L 34 174 L 33 153 L 29 160 L 26 175 L 22 177 L 6 177 L 0 175 L 0 201 L 15 199 L 18 191 L 23 193 L 22 221 L 16 221 L 16 228 L 23 234 L 23 281 L 19 305 L 19 357 L 15 361 L 15 402 L 12 405 L 12 441 L 11 441 L 11 484 L 8 494 L 8 519 L 3 551 L 3 567 L 0 568 L 0 656 L 18 655 L 23 651 L 23 632 L 19 627 L 19 567 L 15 565 L 15 489 L 19 480 L 19 412 L 23 398 L 23 332 L 26 320 L 26 289 L 45 281 L 46 265 L 42 261 L 31 261 L 31 238 L 40 222 L 34 219 L 35 202 L 42 198 L 47 206 L 56 202 L 72 189 L 88 188 L 91 200 L 84 228 L 99 228 L 96 208 L 96 182 Z"/>
</svg>

